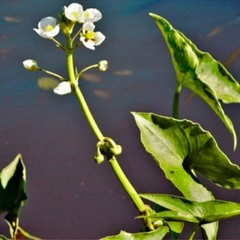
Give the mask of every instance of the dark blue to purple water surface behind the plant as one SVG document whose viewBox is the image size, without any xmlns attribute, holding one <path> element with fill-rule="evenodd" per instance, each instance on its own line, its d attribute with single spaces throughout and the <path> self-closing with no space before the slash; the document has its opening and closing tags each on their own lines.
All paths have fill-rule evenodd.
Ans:
<svg viewBox="0 0 240 240">
<path fill-rule="evenodd" d="M 37 85 L 44 77 L 30 73 L 22 61 L 36 59 L 43 68 L 67 76 L 65 55 L 32 28 L 40 19 L 57 16 L 71 1 L 0 0 L 0 167 L 19 152 L 27 167 L 29 201 L 20 225 L 45 239 L 97 239 L 139 231 L 142 223 L 110 166 L 93 161 L 96 139 L 74 95 L 57 96 Z M 240 46 L 240 2 L 235 0 L 83 0 L 84 8 L 98 8 L 96 23 L 106 40 L 95 51 L 77 51 L 79 69 L 107 59 L 107 72 L 90 71 L 81 81 L 104 135 L 123 147 L 120 165 L 138 192 L 179 194 L 143 150 L 130 111 L 171 115 L 175 74 L 163 38 L 149 12 L 168 19 L 203 51 L 224 62 Z M 60 41 L 61 38 L 56 37 Z M 228 69 L 240 79 L 240 59 Z M 180 115 L 211 131 L 229 158 L 240 164 L 237 148 L 224 125 L 198 97 L 181 96 Z M 240 108 L 225 107 L 240 134 Z M 224 176 L 223 176 L 224 177 Z M 240 202 L 240 192 L 206 181 L 218 199 Z M 239 219 L 220 224 L 219 239 L 236 239 Z M 0 233 L 7 234 L 0 222 Z M 186 235 L 187 236 L 187 235 Z"/>
</svg>

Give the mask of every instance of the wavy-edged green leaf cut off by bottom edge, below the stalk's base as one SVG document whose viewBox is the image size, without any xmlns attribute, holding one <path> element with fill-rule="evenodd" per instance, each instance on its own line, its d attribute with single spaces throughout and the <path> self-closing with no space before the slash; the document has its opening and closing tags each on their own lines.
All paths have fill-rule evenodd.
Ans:
<svg viewBox="0 0 240 240">
<path fill-rule="evenodd" d="M 127 233 L 125 231 L 121 231 L 116 236 L 109 236 L 105 238 L 101 238 L 101 240 L 155 240 L 155 239 L 163 239 L 164 236 L 169 232 L 167 226 L 159 227 L 157 230 L 151 232 L 142 232 L 142 233 Z"/>
</svg>

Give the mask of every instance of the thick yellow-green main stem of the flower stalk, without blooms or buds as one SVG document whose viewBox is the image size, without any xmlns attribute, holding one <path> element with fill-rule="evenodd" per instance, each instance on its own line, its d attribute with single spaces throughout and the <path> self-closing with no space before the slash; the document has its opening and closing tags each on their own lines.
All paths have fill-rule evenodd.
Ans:
<svg viewBox="0 0 240 240">
<path fill-rule="evenodd" d="M 89 125 L 91 126 L 95 136 L 97 137 L 97 139 L 99 141 L 103 141 L 104 136 L 101 133 L 100 129 L 98 128 L 98 126 L 88 108 L 88 105 L 84 99 L 84 96 L 83 96 L 80 88 L 78 87 L 77 79 L 76 79 L 76 76 L 74 73 L 73 55 L 72 55 L 71 49 L 72 49 L 72 41 L 71 41 L 70 37 L 67 37 L 67 50 L 70 50 L 70 51 L 67 51 L 67 68 L 68 68 L 70 83 L 75 88 L 75 94 L 77 96 L 77 99 L 82 107 L 85 117 L 87 118 L 87 121 L 88 121 Z M 115 157 L 112 157 L 109 160 L 109 163 L 112 166 L 112 169 L 114 170 L 115 174 L 117 175 L 119 181 L 123 185 L 124 189 L 130 196 L 132 201 L 134 202 L 138 211 L 142 214 L 145 214 L 145 210 L 146 210 L 145 204 L 143 203 L 142 199 L 138 196 L 138 193 L 136 192 L 136 190 L 134 189 L 134 187 L 132 186 L 132 184 L 129 182 L 126 175 L 122 171 L 121 167 L 119 166 L 119 164 L 117 162 L 117 159 Z"/>
</svg>

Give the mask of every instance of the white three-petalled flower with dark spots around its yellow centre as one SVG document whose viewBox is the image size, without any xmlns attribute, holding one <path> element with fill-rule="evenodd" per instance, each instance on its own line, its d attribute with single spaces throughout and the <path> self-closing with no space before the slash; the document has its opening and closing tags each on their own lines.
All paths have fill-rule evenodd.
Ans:
<svg viewBox="0 0 240 240">
<path fill-rule="evenodd" d="M 85 47 L 94 50 L 95 46 L 100 45 L 104 40 L 105 36 L 101 32 L 94 32 L 95 25 L 91 22 L 83 24 L 82 33 L 80 34 L 80 41 Z"/>
</svg>

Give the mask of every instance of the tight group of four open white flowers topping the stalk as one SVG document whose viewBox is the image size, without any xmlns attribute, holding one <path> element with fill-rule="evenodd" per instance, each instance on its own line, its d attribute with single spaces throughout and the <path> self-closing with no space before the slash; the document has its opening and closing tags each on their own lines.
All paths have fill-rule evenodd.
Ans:
<svg viewBox="0 0 240 240">
<path fill-rule="evenodd" d="M 100 45 L 105 40 L 106 37 L 101 32 L 94 31 L 94 22 L 102 18 L 101 12 L 96 8 L 89 8 L 84 11 L 81 4 L 72 3 L 63 8 L 63 16 L 71 22 L 72 26 L 76 23 L 82 24 L 79 40 L 85 47 L 94 50 L 95 46 Z M 52 39 L 59 33 L 60 26 L 67 28 L 66 25 L 61 25 L 61 22 L 59 24 L 54 17 L 46 17 L 38 23 L 38 28 L 33 30 L 43 38 Z M 65 29 L 62 30 L 65 32 Z"/>
</svg>

